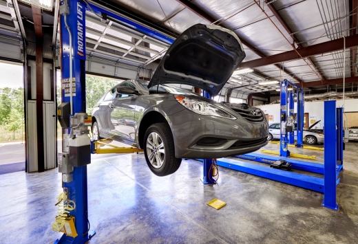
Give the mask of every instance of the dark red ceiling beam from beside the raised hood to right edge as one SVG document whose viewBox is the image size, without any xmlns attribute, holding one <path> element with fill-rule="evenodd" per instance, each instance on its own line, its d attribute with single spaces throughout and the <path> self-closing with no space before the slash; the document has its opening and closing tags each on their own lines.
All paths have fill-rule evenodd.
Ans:
<svg viewBox="0 0 358 244">
<path fill-rule="evenodd" d="M 358 34 L 346 37 L 346 48 L 357 47 L 357 46 L 358 46 Z M 337 50 L 341 50 L 343 48 L 344 48 L 344 38 L 339 38 L 332 41 L 327 41 L 325 43 L 310 45 L 308 47 L 304 47 L 304 49 L 297 49 L 297 52 L 299 52 L 302 58 L 307 58 L 310 56 L 325 54 L 327 52 L 334 52 Z M 301 59 L 301 57 L 297 54 L 297 52 L 293 50 L 288 52 L 282 52 L 281 54 L 266 56 L 264 58 L 258 58 L 255 60 L 241 63 L 240 67 L 255 68 L 265 65 L 275 65 L 277 63 L 283 63 L 291 60 Z"/>
</svg>

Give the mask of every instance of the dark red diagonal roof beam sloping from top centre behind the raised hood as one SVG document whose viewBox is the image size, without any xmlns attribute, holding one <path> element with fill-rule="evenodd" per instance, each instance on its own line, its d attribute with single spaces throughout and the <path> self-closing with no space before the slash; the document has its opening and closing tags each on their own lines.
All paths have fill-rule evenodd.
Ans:
<svg viewBox="0 0 358 244">
<path fill-rule="evenodd" d="M 211 17 L 209 14 L 207 14 L 207 12 L 204 12 L 203 10 L 201 10 L 200 8 L 198 8 L 198 6 L 194 5 L 193 3 L 191 3 L 190 1 L 187 0 L 176 0 L 179 3 L 181 3 L 182 5 L 185 6 L 185 8 L 187 8 L 188 10 L 191 10 L 191 12 L 193 12 L 194 14 L 197 14 L 198 16 L 202 17 L 202 19 L 206 19 L 207 21 L 209 21 L 210 23 L 214 23 L 216 21 L 216 19 L 213 19 L 213 17 Z M 224 27 L 224 25 L 219 24 L 220 26 Z M 237 33 L 235 33 L 237 34 Z M 238 35 L 238 34 L 237 34 Z M 246 38 L 244 38 L 241 35 L 238 35 L 238 37 L 240 38 L 240 41 L 242 42 L 242 44 L 244 44 L 246 47 L 249 47 L 249 49 L 251 49 L 252 52 L 254 52 L 255 54 L 257 54 L 258 56 L 264 58 L 266 57 L 266 54 L 264 54 L 263 52 L 261 52 L 259 49 L 253 47 L 253 45 L 251 45 L 249 43 L 249 41 L 246 40 Z M 278 69 L 284 70 L 284 67 L 282 67 L 282 65 L 280 64 L 275 64 L 275 66 Z M 284 71 L 286 73 L 286 71 Z M 287 73 L 286 73 L 287 74 Z M 262 75 L 263 76 L 263 75 Z M 298 82 L 302 82 L 302 80 L 300 80 L 299 78 L 292 76 L 291 74 L 288 74 L 288 76 L 291 76 L 291 78 L 297 80 Z"/>
</svg>

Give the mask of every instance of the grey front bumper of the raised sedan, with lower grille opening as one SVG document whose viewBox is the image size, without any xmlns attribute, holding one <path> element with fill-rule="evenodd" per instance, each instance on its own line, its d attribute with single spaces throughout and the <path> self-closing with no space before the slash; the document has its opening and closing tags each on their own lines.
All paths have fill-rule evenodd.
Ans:
<svg viewBox="0 0 358 244">
<path fill-rule="evenodd" d="M 267 122 L 205 116 L 187 109 L 170 116 L 177 158 L 219 158 L 257 151 L 267 144 Z M 202 144 L 207 139 L 218 144 Z"/>
</svg>

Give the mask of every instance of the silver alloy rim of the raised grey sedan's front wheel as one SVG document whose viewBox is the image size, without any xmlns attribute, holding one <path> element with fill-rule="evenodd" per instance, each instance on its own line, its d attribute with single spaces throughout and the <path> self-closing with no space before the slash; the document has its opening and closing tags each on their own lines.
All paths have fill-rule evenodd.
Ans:
<svg viewBox="0 0 358 244">
<path fill-rule="evenodd" d="M 152 132 L 147 137 L 147 155 L 151 166 L 160 168 L 165 160 L 165 148 L 162 137 L 156 132 Z"/>
</svg>

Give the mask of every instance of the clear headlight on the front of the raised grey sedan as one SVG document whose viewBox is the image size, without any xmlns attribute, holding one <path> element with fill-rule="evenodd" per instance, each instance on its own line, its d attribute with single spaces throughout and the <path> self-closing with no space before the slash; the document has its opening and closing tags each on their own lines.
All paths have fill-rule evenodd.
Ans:
<svg viewBox="0 0 358 244">
<path fill-rule="evenodd" d="M 185 96 L 174 97 L 180 104 L 182 104 L 182 106 L 193 111 L 194 113 L 236 120 L 235 116 L 231 115 L 227 111 L 224 111 L 224 109 L 220 109 L 220 107 L 210 104 L 209 102 L 204 102 L 196 98 L 187 98 Z"/>
</svg>

